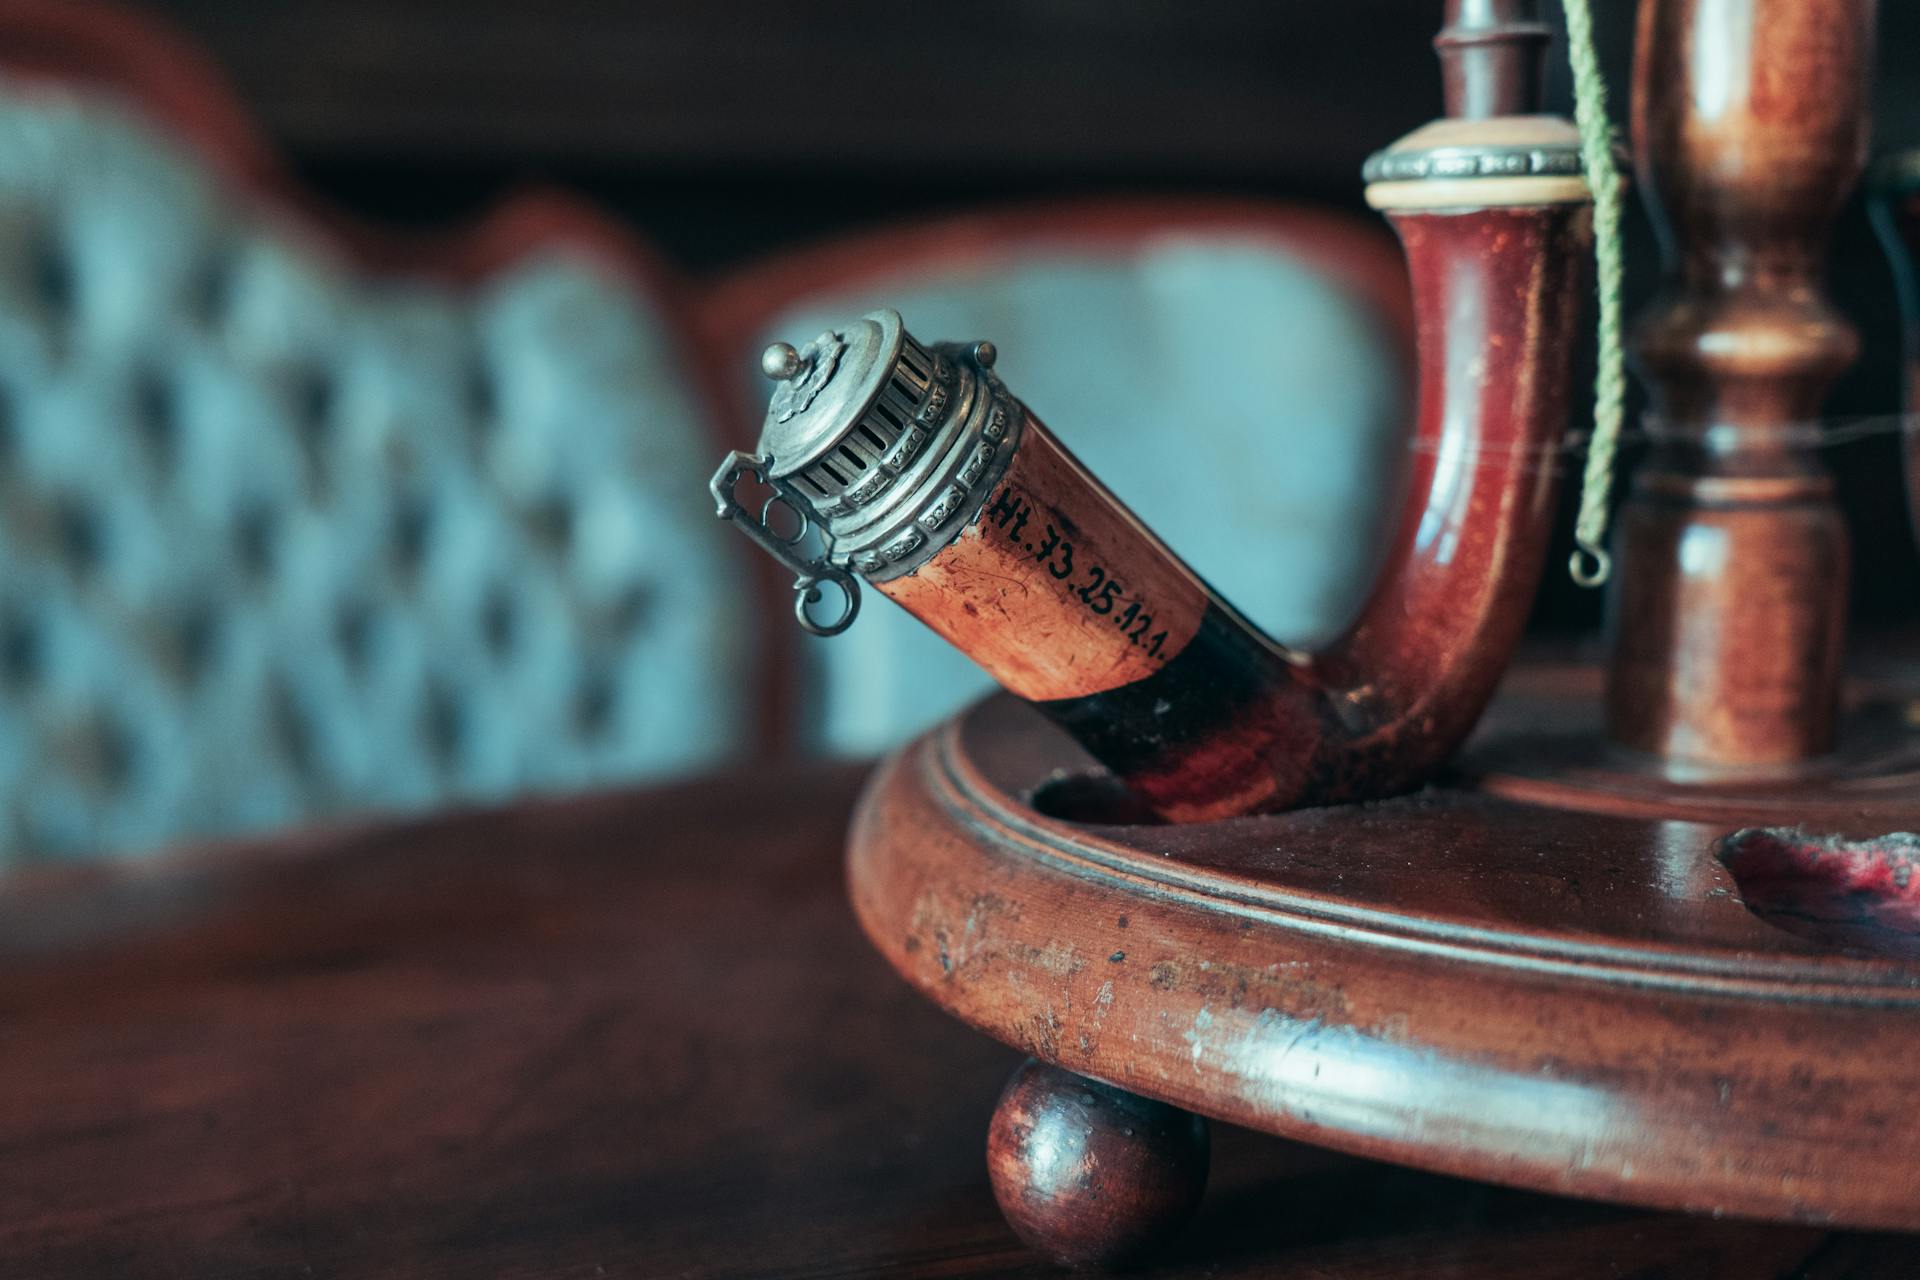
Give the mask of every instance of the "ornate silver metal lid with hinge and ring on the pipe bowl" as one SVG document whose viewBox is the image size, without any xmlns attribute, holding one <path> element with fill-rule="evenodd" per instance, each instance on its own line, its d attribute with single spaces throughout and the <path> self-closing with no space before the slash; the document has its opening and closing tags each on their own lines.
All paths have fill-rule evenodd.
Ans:
<svg viewBox="0 0 1920 1280">
<path fill-rule="evenodd" d="M 989 342 L 920 344 L 895 311 L 762 353 L 776 386 L 758 449 L 728 455 L 710 487 L 720 516 L 799 576 L 803 628 L 843 631 L 860 606 L 854 574 L 910 574 L 979 512 L 1021 424 L 993 363 Z M 745 476 L 772 489 L 758 516 L 737 497 Z M 820 583 L 845 595 L 829 622 L 808 612 Z"/>
</svg>

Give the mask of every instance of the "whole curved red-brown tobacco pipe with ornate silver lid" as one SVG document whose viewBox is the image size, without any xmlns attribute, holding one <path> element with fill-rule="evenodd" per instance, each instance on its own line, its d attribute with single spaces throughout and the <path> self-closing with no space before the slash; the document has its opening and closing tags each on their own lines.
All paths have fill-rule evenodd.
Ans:
<svg viewBox="0 0 1920 1280">
<path fill-rule="evenodd" d="M 1428 779 L 1540 580 L 1590 240 L 1576 132 L 1528 113 L 1548 38 L 1532 2 L 1448 17 L 1450 117 L 1367 165 L 1411 273 L 1419 420 L 1407 507 L 1344 635 L 1315 652 L 1265 637 L 1006 391 L 991 344 L 922 345 L 891 311 L 770 347 L 758 455 L 714 476 L 720 514 L 801 576 L 803 624 L 847 626 L 866 578 L 1173 821 Z M 772 489 L 758 518 L 749 474 Z M 847 599 L 820 626 L 824 581 Z"/>
</svg>

